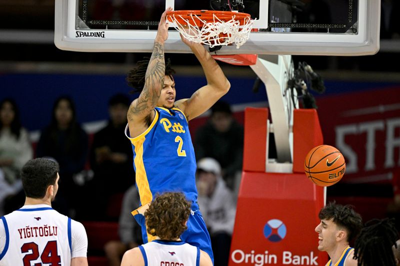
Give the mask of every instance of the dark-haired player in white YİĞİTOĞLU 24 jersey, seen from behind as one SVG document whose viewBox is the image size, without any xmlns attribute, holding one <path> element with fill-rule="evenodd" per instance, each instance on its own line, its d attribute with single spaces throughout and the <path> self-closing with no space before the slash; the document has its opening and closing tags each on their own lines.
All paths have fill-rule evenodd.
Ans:
<svg viewBox="0 0 400 266">
<path fill-rule="evenodd" d="M 51 208 L 58 190 L 58 164 L 28 161 L 21 170 L 24 206 L 0 221 L 0 265 L 87 266 L 82 224 Z"/>
</svg>

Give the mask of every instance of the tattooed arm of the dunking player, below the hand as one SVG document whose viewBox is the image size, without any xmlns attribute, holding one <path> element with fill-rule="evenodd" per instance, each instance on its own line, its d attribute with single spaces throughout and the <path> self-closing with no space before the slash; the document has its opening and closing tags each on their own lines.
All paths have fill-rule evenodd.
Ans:
<svg viewBox="0 0 400 266">
<path fill-rule="evenodd" d="M 128 118 L 131 115 L 148 113 L 157 104 L 165 76 L 164 45 L 155 42 L 148 62 L 145 83 L 139 97 L 130 105 Z"/>
</svg>

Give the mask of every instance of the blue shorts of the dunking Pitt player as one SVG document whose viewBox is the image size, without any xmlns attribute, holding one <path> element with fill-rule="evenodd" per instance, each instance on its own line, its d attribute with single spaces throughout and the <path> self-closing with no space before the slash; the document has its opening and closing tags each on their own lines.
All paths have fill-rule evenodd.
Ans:
<svg viewBox="0 0 400 266">
<path fill-rule="evenodd" d="M 134 218 L 141 227 L 141 235 L 143 237 L 143 243 L 145 244 L 148 242 L 148 240 L 144 216 L 141 214 L 136 214 Z M 205 226 L 203 217 L 201 216 L 201 213 L 198 209 L 192 211 L 192 213 L 190 214 L 189 220 L 187 221 L 187 230 L 183 232 L 183 234 L 180 236 L 180 239 L 183 242 L 198 247 L 200 250 L 207 253 L 208 256 L 211 258 L 212 265 L 214 264 L 214 255 L 212 254 L 211 240 L 209 238 L 209 234 L 207 231 L 207 227 Z"/>
</svg>

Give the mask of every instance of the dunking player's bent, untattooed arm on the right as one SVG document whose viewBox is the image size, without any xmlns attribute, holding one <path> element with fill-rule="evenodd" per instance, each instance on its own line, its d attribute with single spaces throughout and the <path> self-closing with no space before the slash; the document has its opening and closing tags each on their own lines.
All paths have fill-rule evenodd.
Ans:
<svg viewBox="0 0 400 266">
<path fill-rule="evenodd" d="M 225 95 L 230 88 L 230 83 L 222 69 L 202 44 L 188 41 L 182 35 L 180 36 L 197 57 L 207 79 L 207 85 L 195 91 L 189 99 L 182 99 L 175 103 L 176 107 L 181 109 L 187 119 L 190 120 L 207 111 L 219 98 Z"/>
</svg>

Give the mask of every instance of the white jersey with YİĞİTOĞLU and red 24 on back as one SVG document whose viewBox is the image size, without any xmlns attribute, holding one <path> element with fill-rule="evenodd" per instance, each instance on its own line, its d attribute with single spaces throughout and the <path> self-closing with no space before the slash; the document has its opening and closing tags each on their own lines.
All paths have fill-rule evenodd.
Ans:
<svg viewBox="0 0 400 266">
<path fill-rule="evenodd" d="M 0 254 L 0 266 L 70 265 L 70 218 L 48 205 L 31 205 L 1 220 L 6 242 Z"/>
</svg>

